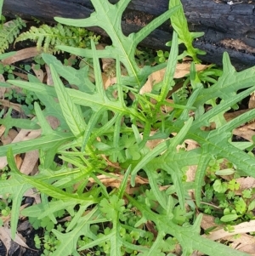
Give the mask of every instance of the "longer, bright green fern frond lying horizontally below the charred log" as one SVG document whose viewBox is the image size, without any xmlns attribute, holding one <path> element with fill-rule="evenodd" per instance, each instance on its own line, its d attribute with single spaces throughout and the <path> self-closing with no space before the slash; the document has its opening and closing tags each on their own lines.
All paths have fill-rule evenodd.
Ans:
<svg viewBox="0 0 255 256">
<path fill-rule="evenodd" d="M 55 48 L 56 45 L 68 45 L 72 47 L 87 48 L 90 45 L 90 38 L 98 41 L 99 37 L 95 37 L 93 32 L 84 28 L 63 26 L 57 24 L 55 26 L 31 26 L 29 31 L 20 34 L 16 38 L 16 42 L 32 40 L 37 42 L 37 49 L 46 53 L 59 52 Z"/>
</svg>

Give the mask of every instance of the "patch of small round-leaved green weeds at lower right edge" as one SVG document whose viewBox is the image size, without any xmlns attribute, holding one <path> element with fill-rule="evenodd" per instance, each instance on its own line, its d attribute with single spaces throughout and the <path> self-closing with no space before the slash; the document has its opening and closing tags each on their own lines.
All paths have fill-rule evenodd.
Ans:
<svg viewBox="0 0 255 256">
<path fill-rule="evenodd" d="M 240 183 L 237 179 L 227 181 L 219 178 L 218 175 L 231 177 L 230 175 L 233 174 L 232 177 L 240 177 L 240 172 L 234 171 L 233 164 L 229 162 L 224 162 L 224 165 L 229 168 L 220 170 L 220 164 L 223 162 L 224 159 L 214 159 L 207 168 L 207 178 L 211 182 L 207 182 L 204 186 L 201 211 L 214 216 L 218 224 L 237 225 L 242 221 L 254 219 L 252 213 L 254 190 L 246 189 L 240 193 Z"/>
</svg>

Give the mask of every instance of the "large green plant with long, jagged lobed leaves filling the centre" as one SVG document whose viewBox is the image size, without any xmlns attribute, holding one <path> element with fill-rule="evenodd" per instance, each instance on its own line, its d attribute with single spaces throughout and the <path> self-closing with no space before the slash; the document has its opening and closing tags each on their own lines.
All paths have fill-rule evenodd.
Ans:
<svg viewBox="0 0 255 256">
<path fill-rule="evenodd" d="M 218 158 L 228 159 L 236 168 L 254 177 L 254 157 L 246 154 L 242 145 L 239 148 L 232 143 L 231 136 L 234 128 L 255 117 L 255 111 L 248 111 L 230 122 L 223 119 L 225 111 L 254 91 L 254 68 L 236 72 L 228 54 L 224 54 L 222 76 L 209 88 L 204 88 L 193 63 L 190 66 L 190 97 L 182 104 L 169 104 L 167 94 L 175 82 L 178 39 L 195 61 L 198 61 L 196 54 L 199 53 L 192 46 L 194 37 L 187 27 L 181 29 L 179 26 L 186 24 L 181 3 L 171 0 L 172 7 L 165 14 L 126 37 L 122 34 L 121 20 L 129 2 L 120 0 L 111 4 L 92 0 L 95 11 L 88 19 L 56 19 L 70 26 L 100 26 L 111 37 L 112 46 L 100 51 L 95 49 L 93 40 L 91 49 L 58 47 L 92 58 L 94 83 L 88 78 L 88 65 L 76 70 L 62 65 L 49 54 L 42 54 L 42 59 L 50 66 L 54 87 L 31 75 L 30 82 L 8 81 L 35 92 L 45 105 L 41 110 L 37 103 L 34 104 L 36 121 L 15 122 L 18 128 L 25 121 L 31 124 L 31 129 L 42 128 L 40 137 L 0 147 L 0 156 L 7 156 L 11 169 L 12 179 L 0 180 L 0 193 L 14 195 L 12 236 L 17 227 L 22 196 L 27 190 L 36 188 L 44 200 L 24 209 L 21 212 L 24 216 L 37 220 L 47 217 L 54 225 L 58 223 L 56 213 L 59 211 L 65 210 L 71 217 L 65 232 L 52 230 L 59 241 L 52 253 L 54 256 L 79 255 L 79 252 L 98 245 L 111 256 L 124 253 L 166 255 L 168 250 L 174 252 L 176 243 L 182 247 L 184 256 L 194 250 L 213 256 L 247 255 L 200 235 L 201 215 L 195 217 L 195 205 L 190 202 L 187 191 L 195 189 L 195 202 L 199 207 L 207 166 Z M 134 58 L 137 44 L 170 17 L 175 29 L 169 54 L 171 61 L 140 68 Z M 107 97 L 109 91 L 105 92 L 99 58 L 116 59 L 116 94 L 111 97 Z M 127 69 L 126 77 L 121 76 L 120 60 Z M 156 88 L 150 93 L 139 94 L 139 88 L 150 73 L 166 65 L 165 76 Z M 78 89 L 65 88 L 59 76 Z M 132 93 L 132 102 L 126 101 L 127 93 Z M 218 103 L 215 99 L 219 99 Z M 208 102 L 212 103 L 212 108 L 205 111 Z M 173 110 L 162 112 L 161 106 L 165 105 L 171 105 Z M 59 119 L 59 128 L 53 130 L 50 127 L 45 119 L 48 116 Z M 2 122 L 6 127 L 13 125 L 9 117 Z M 216 128 L 205 130 L 210 122 L 216 122 Z M 155 139 L 161 139 L 161 142 L 151 148 L 148 141 Z M 200 147 L 191 151 L 178 149 L 185 139 L 195 140 Z M 35 176 L 20 174 L 13 155 L 32 150 L 40 152 L 40 173 Z M 56 154 L 62 160 L 59 165 L 54 162 Z M 185 180 L 185 171 L 190 165 L 197 165 L 195 182 Z M 100 175 L 113 178 L 118 184 L 107 190 Z M 135 186 L 141 177 L 148 179 L 148 184 L 137 185 L 137 191 L 128 194 L 129 179 Z M 160 189 L 164 182 L 171 185 L 169 189 Z M 215 187 L 223 191 L 222 183 Z M 48 196 L 54 200 L 48 200 Z M 184 207 L 185 202 L 190 203 L 190 210 Z M 236 213 L 243 213 L 243 202 L 237 200 L 237 205 Z M 95 225 L 99 229 L 94 229 Z M 81 236 L 86 236 L 87 240 L 77 248 Z"/>
</svg>

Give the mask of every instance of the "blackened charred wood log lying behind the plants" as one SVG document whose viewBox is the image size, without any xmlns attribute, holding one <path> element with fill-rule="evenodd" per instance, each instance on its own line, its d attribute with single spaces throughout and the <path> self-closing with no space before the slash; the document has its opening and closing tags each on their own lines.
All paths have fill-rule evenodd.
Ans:
<svg viewBox="0 0 255 256">
<path fill-rule="evenodd" d="M 106 1 L 106 0 L 105 0 Z M 239 1 L 239 2 L 236 2 Z M 111 0 L 117 3 L 118 0 Z M 194 45 L 207 52 L 200 59 L 222 64 L 222 54 L 227 51 L 237 70 L 255 65 L 255 1 L 254 0 L 182 0 L 190 31 L 204 31 Z M 122 17 L 125 34 L 139 29 L 167 10 L 168 0 L 132 0 Z M 24 19 L 37 17 L 53 21 L 54 16 L 86 18 L 94 11 L 90 0 L 6 0 L 3 14 L 20 15 Z M 100 31 L 99 28 L 90 28 Z M 143 44 L 150 48 L 166 48 L 172 30 L 166 23 L 153 31 Z"/>
</svg>

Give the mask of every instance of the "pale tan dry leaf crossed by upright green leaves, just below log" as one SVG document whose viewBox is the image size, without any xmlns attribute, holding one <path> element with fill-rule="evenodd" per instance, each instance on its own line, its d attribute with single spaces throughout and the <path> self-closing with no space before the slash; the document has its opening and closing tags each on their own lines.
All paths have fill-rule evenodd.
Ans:
<svg viewBox="0 0 255 256">
<path fill-rule="evenodd" d="M 187 74 L 190 73 L 190 65 L 191 63 L 178 63 L 176 65 L 176 70 L 173 75 L 174 78 L 181 78 L 185 77 Z M 196 64 L 195 65 L 195 70 L 196 71 L 203 71 L 207 68 L 207 65 L 202 65 L 202 64 Z M 145 94 L 145 93 L 150 93 L 153 86 L 161 82 L 165 76 L 166 68 L 161 69 L 160 71 L 153 72 L 150 74 L 148 77 L 147 82 L 145 82 L 144 86 L 140 89 L 139 94 Z"/>
</svg>

